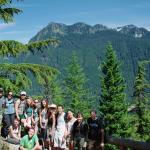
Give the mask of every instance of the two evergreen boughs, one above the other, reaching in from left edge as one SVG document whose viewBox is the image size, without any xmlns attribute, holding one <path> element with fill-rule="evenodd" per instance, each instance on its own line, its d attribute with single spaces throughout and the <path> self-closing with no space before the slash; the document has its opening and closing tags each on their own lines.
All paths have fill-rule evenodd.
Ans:
<svg viewBox="0 0 150 150">
<path fill-rule="evenodd" d="M 41 51 L 43 47 L 48 47 L 49 45 L 57 45 L 57 41 L 48 39 L 29 44 L 22 44 L 13 40 L 0 41 L 0 56 L 7 57 L 9 60 L 10 57 L 15 58 L 20 53 L 27 53 L 29 51 L 35 53 L 36 50 Z M 0 86 L 6 91 L 13 90 L 14 92 L 19 92 L 20 89 L 27 89 L 32 85 L 30 78 L 32 74 L 37 83 L 45 87 L 47 82 L 50 82 L 52 76 L 57 74 L 57 72 L 55 68 L 38 64 L 1 63 Z"/>
</svg>

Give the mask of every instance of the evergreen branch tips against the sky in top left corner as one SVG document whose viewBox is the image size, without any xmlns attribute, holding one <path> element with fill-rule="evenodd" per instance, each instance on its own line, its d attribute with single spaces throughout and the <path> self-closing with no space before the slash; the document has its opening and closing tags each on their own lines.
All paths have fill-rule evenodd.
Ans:
<svg viewBox="0 0 150 150">
<path fill-rule="evenodd" d="M 12 7 L 12 0 L 0 0 L 0 20 L 6 23 L 13 22 L 14 15 L 22 13 L 22 10 Z"/>
</svg>

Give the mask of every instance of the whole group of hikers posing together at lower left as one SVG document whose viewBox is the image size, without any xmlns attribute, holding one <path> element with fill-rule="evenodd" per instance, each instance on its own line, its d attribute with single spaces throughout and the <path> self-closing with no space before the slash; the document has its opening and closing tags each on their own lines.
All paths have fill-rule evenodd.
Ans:
<svg viewBox="0 0 150 150">
<path fill-rule="evenodd" d="M 100 150 L 104 148 L 103 121 L 92 110 L 87 120 L 82 113 L 64 112 L 62 105 L 28 97 L 25 91 L 14 99 L 0 88 L 1 136 L 20 150 Z"/>
</svg>

